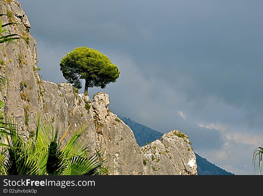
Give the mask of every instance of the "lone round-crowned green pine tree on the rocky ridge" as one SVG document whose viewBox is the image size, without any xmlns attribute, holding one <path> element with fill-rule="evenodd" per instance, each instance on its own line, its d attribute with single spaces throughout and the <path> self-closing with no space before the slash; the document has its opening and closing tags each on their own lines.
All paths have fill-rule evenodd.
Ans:
<svg viewBox="0 0 263 196">
<path fill-rule="evenodd" d="M 85 93 L 88 87 L 105 88 L 108 83 L 116 82 L 120 75 L 118 67 L 107 56 L 87 47 L 75 48 L 67 53 L 60 62 L 60 70 L 65 79 L 78 89 L 82 88 L 84 79 Z"/>
</svg>

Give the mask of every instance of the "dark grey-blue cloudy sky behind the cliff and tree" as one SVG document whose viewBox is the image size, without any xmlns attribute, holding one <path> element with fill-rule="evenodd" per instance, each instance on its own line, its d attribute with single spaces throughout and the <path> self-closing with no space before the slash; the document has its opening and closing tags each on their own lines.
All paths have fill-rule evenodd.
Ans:
<svg viewBox="0 0 263 196">
<path fill-rule="evenodd" d="M 179 129 L 196 153 L 250 174 L 263 145 L 263 1 L 20 0 L 38 42 L 44 80 L 87 46 L 120 78 L 105 89 L 111 111 L 162 133 Z M 252 174 L 253 170 L 252 170 Z"/>
</svg>

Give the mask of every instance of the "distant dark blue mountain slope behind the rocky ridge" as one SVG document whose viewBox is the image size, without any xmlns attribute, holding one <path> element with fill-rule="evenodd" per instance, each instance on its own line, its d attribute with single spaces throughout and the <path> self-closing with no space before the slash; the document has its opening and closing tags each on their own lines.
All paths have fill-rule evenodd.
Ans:
<svg viewBox="0 0 263 196">
<path fill-rule="evenodd" d="M 163 133 L 155 131 L 143 124 L 137 123 L 130 118 L 126 118 L 118 115 L 118 117 L 127 124 L 133 131 L 135 139 L 139 146 L 144 146 L 146 142 L 153 142 L 156 139 L 160 139 Z M 234 175 L 215 164 L 207 161 L 203 157 L 200 157 L 195 153 L 197 163 L 197 174 L 198 175 Z"/>
</svg>

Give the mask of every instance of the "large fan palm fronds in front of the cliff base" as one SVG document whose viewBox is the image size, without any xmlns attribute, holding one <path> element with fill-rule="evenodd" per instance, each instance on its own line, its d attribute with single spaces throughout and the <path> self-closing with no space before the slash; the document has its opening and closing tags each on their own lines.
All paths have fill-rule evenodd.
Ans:
<svg viewBox="0 0 263 196">
<path fill-rule="evenodd" d="M 35 137 L 25 141 L 18 134 L 19 125 L 9 124 L 8 130 L 1 130 L 8 144 L 0 151 L 0 175 L 96 175 L 109 174 L 105 160 L 99 152 L 91 154 L 86 145 L 77 143 L 85 126 L 62 147 L 62 137 L 58 129 L 53 131 L 51 124 L 40 123 L 38 116 L 34 131 Z M 33 133 L 33 132 L 31 132 Z M 5 155 L 5 156 L 4 156 Z"/>
</svg>

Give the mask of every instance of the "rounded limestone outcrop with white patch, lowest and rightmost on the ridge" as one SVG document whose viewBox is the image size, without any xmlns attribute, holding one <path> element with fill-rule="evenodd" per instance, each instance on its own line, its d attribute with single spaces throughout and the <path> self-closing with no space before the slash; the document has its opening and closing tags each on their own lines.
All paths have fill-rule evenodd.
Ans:
<svg viewBox="0 0 263 196">
<path fill-rule="evenodd" d="M 179 130 L 143 146 L 144 175 L 197 175 L 195 154 L 189 139 Z"/>
</svg>

